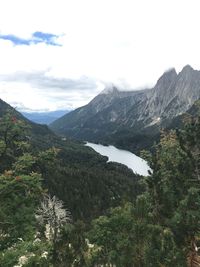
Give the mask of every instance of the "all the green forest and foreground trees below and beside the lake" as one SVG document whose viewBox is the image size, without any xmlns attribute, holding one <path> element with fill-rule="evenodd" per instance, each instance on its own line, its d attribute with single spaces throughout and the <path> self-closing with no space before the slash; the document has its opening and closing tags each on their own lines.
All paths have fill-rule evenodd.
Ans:
<svg viewBox="0 0 200 267">
<path fill-rule="evenodd" d="M 3 115 L 0 266 L 199 266 L 198 105 L 142 151 L 147 177 Z"/>
</svg>

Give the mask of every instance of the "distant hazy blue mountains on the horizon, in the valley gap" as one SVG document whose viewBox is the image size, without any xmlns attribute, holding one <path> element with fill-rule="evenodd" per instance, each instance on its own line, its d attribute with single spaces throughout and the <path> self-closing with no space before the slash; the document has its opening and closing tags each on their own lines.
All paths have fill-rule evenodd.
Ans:
<svg viewBox="0 0 200 267">
<path fill-rule="evenodd" d="M 22 112 L 22 114 L 33 122 L 48 125 L 68 112 L 69 110 L 56 110 L 50 112 Z"/>
</svg>

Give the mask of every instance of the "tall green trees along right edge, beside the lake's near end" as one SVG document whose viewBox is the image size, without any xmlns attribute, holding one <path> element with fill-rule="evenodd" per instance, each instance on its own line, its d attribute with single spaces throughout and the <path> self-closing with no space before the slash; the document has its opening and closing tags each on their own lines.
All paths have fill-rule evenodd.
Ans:
<svg viewBox="0 0 200 267">
<path fill-rule="evenodd" d="M 182 130 L 162 132 L 150 161 L 153 173 L 146 183 L 151 213 L 155 224 L 170 233 L 166 241 L 171 251 L 166 260 L 162 258 L 166 266 L 172 266 L 173 259 L 177 261 L 173 266 L 186 266 L 187 255 L 194 250 L 191 244 L 200 233 L 199 126 L 195 117 Z"/>
</svg>

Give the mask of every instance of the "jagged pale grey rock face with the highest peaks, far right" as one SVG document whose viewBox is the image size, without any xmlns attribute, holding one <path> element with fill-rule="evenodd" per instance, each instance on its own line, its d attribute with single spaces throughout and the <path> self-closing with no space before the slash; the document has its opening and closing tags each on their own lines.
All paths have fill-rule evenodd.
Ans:
<svg viewBox="0 0 200 267">
<path fill-rule="evenodd" d="M 185 66 L 179 74 L 174 69 L 163 74 L 149 92 L 144 110 L 149 111 L 152 122 L 162 121 L 187 111 L 199 98 L 200 72 Z"/>
</svg>

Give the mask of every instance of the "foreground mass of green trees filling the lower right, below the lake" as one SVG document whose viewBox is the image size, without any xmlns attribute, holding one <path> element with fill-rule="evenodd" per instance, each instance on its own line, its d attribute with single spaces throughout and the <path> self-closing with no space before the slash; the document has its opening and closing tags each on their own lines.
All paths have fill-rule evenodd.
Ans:
<svg viewBox="0 0 200 267">
<path fill-rule="evenodd" d="M 199 144 L 197 116 L 182 130 L 162 131 L 153 154 L 143 152 L 152 169 L 143 179 L 145 192 L 92 223 L 89 239 L 99 247 L 91 254 L 95 263 L 184 267 L 200 262 Z"/>
</svg>

